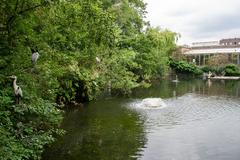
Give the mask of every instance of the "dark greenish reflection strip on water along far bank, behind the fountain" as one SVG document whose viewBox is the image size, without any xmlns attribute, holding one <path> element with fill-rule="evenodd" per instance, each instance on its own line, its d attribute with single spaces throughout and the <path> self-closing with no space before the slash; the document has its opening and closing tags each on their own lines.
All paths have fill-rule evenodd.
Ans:
<svg viewBox="0 0 240 160">
<path fill-rule="evenodd" d="M 132 98 L 179 97 L 185 93 L 196 93 L 205 96 L 239 97 L 240 81 L 180 79 L 179 83 L 163 80 L 148 89 L 136 89 Z"/>
</svg>

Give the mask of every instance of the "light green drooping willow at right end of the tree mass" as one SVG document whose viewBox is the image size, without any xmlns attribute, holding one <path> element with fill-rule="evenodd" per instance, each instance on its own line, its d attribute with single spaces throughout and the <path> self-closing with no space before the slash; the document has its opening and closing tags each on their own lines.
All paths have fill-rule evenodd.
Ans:
<svg viewBox="0 0 240 160">
<path fill-rule="evenodd" d="M 164 76 L 168 69 L 168 58 L 175 50 L 176 34 L 159 28 L 147 28 L 133 40 L 132 48 L 139 64 L 134 73 L 143 80 Z"/>
</svg>

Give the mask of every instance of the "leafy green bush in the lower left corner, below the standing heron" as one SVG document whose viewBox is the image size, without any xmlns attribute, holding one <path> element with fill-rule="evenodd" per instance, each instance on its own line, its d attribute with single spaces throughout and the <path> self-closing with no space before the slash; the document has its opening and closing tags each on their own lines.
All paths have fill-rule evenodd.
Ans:
<svg viewBox="0 0 240 160">
<path fill-rule="evenodd" d="M 10 93 L 9 89 L 0 92 L 0 159 L 40 159 L 43 147 L 54 141 L 54 135 L 63 134 L 58 129 L 61 111 L 33 97 L 32 102 L 14 105 Z"/>
</svg>

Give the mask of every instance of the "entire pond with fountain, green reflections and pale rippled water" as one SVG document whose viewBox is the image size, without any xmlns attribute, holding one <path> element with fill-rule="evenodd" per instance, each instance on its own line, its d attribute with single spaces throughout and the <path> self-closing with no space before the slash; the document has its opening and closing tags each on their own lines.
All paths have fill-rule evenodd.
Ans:
<svg viewBox="0 0 240 160">
<path fill-rule="evenodd" d="M 240 81 L 161 81 L 69 111 L 62 128 L 43 159 L 236 160 Z"/>
</svg>

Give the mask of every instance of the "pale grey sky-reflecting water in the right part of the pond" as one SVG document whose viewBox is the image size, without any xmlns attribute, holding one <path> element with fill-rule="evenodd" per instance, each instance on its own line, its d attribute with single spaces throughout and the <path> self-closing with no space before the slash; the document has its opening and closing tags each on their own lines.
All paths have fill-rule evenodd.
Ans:
<svg viewBox="0 0 240 160">
<path fill-rule="evenodd" d="M 140 159 L 239 158 L 239 99 L 191 93 L 164 102 L 162 110 L 139 109 L 148 130 Z"/>
</svg>

